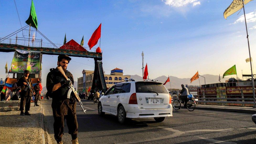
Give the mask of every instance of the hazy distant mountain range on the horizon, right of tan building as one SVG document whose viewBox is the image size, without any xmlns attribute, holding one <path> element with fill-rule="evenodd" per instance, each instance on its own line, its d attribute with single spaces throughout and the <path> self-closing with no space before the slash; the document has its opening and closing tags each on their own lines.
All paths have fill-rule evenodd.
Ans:
<svg viewBox="0 0 256 144">
<path fill-rule="evenodd" d="M 211 74 L 205 74 L 202 76 L 205 77 L 206 84 L 219 82 L 219 76 L 211 75 Z M 205 83 L 203 77 L 199 76 L 201 85 Z M 142 80 L 142 77 L 138 75 L 132 75 L 131 78 L 135 80 Z M 154 80 L 164 83 L 167 80 L 167 78 L 168 78 L 167 76 L 160 76 L 160 77 L 154 78 Z M 229 78 L 227 77 L 223 78 L 221 79 L 221 82 L 225 82 L 228 79 Z M 188 84 L 189 86 L 199 86 L 198 79 L 190 83 L 190 78 L 178 78 L 178 77 L 170 76 L 170 82 L 171 82 L 172 88 L 178 88 L 178 89 L 181 89 L 181 86 L 180 86 L 181 84 L 184 84 L 184 85 Z M 167 89 L 170 88 L 170 83 L 167 83 L 165 86 Z"/>
</svg>

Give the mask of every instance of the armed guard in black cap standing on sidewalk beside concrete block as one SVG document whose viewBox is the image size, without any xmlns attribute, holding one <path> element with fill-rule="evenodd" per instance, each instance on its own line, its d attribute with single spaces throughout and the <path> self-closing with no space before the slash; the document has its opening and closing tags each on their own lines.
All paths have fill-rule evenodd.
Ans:
<svg viewBox="0 0 256 144">
<path fill-rule="evenodd" d="M 20 115 L 30 115 L 29 109 L 30 109 L 30 100 L 33 94 L 35 95 L 35 92 L 33 90 L 31 79 L 28 78 L 29 71 L 24 71 L 24 76 L 21 77 L 17 83 L 18 87 L 21 87 L 20 92 Z M 24 113 L 24 106 L 25 106 L 25 113 Z"/>
</svg>

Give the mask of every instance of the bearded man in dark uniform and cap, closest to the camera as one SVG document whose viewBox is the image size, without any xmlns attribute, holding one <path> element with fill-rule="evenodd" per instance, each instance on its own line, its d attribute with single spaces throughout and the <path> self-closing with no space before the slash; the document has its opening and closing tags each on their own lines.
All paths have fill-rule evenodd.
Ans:
<svg viewBox="0 0 256 144">
<path fill-rule="evenodd" d="M 51 68 L 46 79 L 46 88 L 52 97 L 52 113 L 54 117 L 54 137 L 57 143 L 62 144 L 64 120 L 66 119 L 68 133 L 72 137 L 72 144 L 78 144 L 78 123 L 76 116 L 76 99 L 73 95 L 67 97 L 68 87 L 74 83 L 71 72 L 67 71 L 71 58 L 68 55 L 59 55 L 57 66 L 61 66 L 70 81 L 60 73 L 58 68 Z M 47 93 L 48 93 L 47 92 Z"/>
</svg>

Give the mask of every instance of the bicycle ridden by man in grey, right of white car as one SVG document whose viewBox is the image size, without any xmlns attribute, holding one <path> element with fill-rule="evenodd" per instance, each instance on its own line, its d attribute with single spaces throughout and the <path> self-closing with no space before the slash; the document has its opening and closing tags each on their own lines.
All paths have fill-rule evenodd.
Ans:
<svg viewBox="0 0 256 144">
<path fill-rule="evenodd" d="M 183 101 L 183 100 L 181 100 L 180 98 L 179 98 L 179 99 L 175 99 L 175 100 L 173 101 L 173 108 L 174 108 L 175 110 L 179 110 L 179 109 L 181 108 L 181 103 L 183 103 L 183 105 L 184 105 L 184 101 Z M 185 106 L 185 105 L 184 105 L 184 106 Z M 188 102 L 187 102 L 186 108 L 187 108 L 189 111 L 195 110 L 195 108 L 196 108 L 196 102 L 195 102 L 195 100 L 189 99 Z"/>
</svg>

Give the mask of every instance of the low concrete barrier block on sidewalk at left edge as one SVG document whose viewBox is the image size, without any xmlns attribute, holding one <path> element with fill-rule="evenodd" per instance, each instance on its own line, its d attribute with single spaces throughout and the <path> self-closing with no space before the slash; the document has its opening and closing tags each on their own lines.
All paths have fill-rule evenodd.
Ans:
<svg viewBox="0 0 256 144">
<path fill-rule="evenodd" d="M 0 111 L 19 110 L 19 100 L 0 101 Z"/>
</svg>

